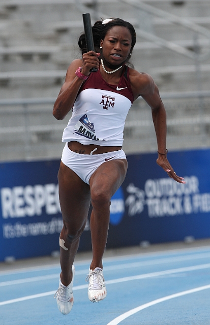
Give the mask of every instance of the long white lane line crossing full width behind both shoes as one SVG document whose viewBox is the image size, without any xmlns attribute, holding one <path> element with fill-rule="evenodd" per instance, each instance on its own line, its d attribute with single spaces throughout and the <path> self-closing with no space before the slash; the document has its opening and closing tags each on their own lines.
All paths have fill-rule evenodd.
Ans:
<svg viewBox="0 0 210 325">
<path fill-rule="evenodd" d="M 153 272 L 153 273 L 146 273 L 146 274 L 139 274 L 139 275 L 125 277 L 125 278 L 108 280 L 108 281 L 106 281 L 106 284 L 114 284 L 114 283 L 127 282 L 127 281 L 132 281 L 132 280 L 140 280 L 140 279 L 152 278 L 152 277 L 157 277 L 157 276 L 166 275 L 166 274 L 174 274 L 174 273 L 195 271 L 195 270 L 201 270 L 201 269 L 207 269 L 207 268 L 210 268 L 210 263 L 209 264 L 203 264 L 203 265 L 196 265 L 196 266 L 192 266 L 192 267 L 172 269 L 172 270 Z M 77 286 L 73 287 L 73 290 L 75 291 L 75 290 L 85 289 L 87 287 L 88 287 L 88 284 L 77 285 Z M 42 293 L 42 294 L 37 294 L 37 295 L 32 295 L 32 296 L 25 296 L 25 297 L 21 297 L 21 298 L 6 300 L 6 301 L 0 302 L 0 306 L 12 304 L 12 303 L 17 303 L 17 302 L 24 301 L 24 300 L 29 300 L 29 299 L 35 299 L 35 298 L 51 296 L 51 295 L 54 295 L 54 293 L 55 293 L 55 291 L 48 291 L 48 292 Z"/>
</svg>

